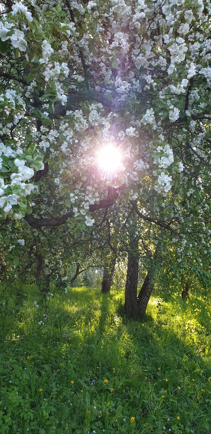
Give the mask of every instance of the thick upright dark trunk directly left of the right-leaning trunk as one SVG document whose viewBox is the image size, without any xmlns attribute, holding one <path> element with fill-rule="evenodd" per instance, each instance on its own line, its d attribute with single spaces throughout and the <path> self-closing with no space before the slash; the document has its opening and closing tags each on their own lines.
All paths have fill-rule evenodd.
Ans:
<svg viewBox="0 0 211 434">
<path fill-rule="evenodd" d="M 138 285 L 138 238 L 130 243 L 128 253 L 128 268 L 125 285 L 125 314 L 129 317 L 137 311 L 137 285 Z"/>
</svg>

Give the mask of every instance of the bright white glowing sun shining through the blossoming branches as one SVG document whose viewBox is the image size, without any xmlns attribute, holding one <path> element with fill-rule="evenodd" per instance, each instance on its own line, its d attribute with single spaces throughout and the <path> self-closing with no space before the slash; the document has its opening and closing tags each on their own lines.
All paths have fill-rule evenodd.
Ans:
<svg viewBox="0 0 211 434">
<path fill-rule="evenodd" d="M 108 174 L 115 174 L 121 164 L 121 152 L 113 145 L 105 145 L 98 153 L 99 167 Z"/>
</svg>

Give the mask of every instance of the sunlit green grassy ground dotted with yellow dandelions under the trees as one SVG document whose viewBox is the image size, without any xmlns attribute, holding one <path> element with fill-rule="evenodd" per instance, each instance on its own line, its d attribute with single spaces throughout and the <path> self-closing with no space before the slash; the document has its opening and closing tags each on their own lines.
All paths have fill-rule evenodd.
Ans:
<svg viewBox="0 0 211 434">
<path fill-rule="evenodd" d="M 1 316 L 0 434 L 211 433 L 202 299 L 152 298 L 142 323 L 122 317 L 122 293 L 73 288 L 50 299 L 43 325 L 26 291 L 25 307 Z"/>
</svg>

